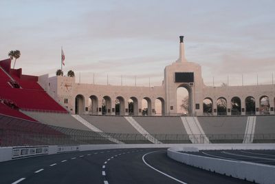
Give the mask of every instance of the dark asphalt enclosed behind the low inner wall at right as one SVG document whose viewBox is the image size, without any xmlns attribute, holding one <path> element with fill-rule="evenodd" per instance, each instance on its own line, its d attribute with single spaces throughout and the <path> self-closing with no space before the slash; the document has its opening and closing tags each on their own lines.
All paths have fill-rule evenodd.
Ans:
<svg viewBox="0 0 275 184">
<path fill-rule="evenodd" d="M 201 150 L 188 152 L 188 154 L 275 165 L 275 150 Z"/>
</svg>

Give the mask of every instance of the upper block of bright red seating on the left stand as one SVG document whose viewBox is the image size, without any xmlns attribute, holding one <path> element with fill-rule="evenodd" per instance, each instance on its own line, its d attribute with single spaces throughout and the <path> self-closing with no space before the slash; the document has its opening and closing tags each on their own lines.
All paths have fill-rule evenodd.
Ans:
<svg viewBox="0 0 275 184">
<path fill-rule="evenodd" d="M 0 61 L 1 99 L 16 103 L 19 109 L 67 113 L 67 110 L 54 101 L 37 83 L 38 76 L 23 75 L 21 68 L 18 70 L 10 69 L 10 63 L 10 59 Z M 12 87 L 10 85 L 12 83 L 19 85 L 20 88 Z"/>
</svg>

